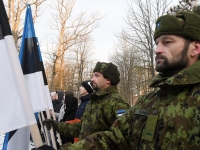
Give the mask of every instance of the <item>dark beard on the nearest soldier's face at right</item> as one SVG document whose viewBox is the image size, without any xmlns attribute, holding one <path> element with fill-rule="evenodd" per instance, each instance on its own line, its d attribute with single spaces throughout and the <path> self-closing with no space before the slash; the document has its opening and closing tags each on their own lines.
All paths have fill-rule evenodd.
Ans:
<svg viewBox="0 0 200 150">
<path fill-rule="evenodd" d="M 188 64 L 187 52 L 189 49 L 189 44 L 190 41 L 187 41 L 183 50 L 178 55 L 178 58 L 174 56 L 176 58 L 172 58 L 173 60 L 171 62 L 166 57 L 162 56 L 162 59 L 164 59 L 164 61 L 162 62 L 162 64 L 156 64 L 156 71 L 168 75 L 174 75 L 178 71 L 184 69 Z"/>
</svg>

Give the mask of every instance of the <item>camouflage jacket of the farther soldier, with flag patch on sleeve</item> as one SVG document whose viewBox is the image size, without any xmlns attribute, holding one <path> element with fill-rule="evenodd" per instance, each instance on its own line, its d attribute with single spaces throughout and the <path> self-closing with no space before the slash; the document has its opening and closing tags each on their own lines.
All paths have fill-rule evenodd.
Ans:
<svg viewBox="0 0 200 150">
<path fill-rule="evenodd" d="M 93 92 L 80 123 L 58 123 L 58 132 L 80 139 L 100 131 L 109 130 L 119 118 L 119 110 L 128 110 L 130 105 L 118 94 L 116 86 Z"/>
</svg>

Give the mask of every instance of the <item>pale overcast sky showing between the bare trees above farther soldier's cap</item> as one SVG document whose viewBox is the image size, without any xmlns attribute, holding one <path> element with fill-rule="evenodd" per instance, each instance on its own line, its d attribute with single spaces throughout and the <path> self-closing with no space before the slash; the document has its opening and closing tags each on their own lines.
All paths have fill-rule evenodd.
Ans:
<svg viewBox="0 0 200 150">
<path fill-rule="evenodd" d="M 177 4 L 178 0 L 173 0 L 173 4 Z M 100 20 L 99 27 L 94 30 L 92 37 L 93 57 L 97 61 L 108 61 L 108 54 L 113 49 L 117 39 L 114 33 L 119 33 L 122 27 L 125 27 L 125 14 L 126 14 L 127 2 L 126 0 L 77 0 L 75 4 L 75 10 L 77 13 L 80 11 L 87 11 L 88 14 L 99 11 L 104 18 Z M 44 18 L 43 18 L 44 19 Z M 36 36 L 39 41 L 44 39 L 50 32 L 47 23 L 41 25 L 40 19 L 38 24 L 35 24 Z M 45 18 L 46 19 L 46 18 Z M 43 26 L 41 30 L 41 26 Z M 40 30 L 39 30 L 40 28 Z M 41 49 L 42 51 L 42 49 Z"/>
</svg>

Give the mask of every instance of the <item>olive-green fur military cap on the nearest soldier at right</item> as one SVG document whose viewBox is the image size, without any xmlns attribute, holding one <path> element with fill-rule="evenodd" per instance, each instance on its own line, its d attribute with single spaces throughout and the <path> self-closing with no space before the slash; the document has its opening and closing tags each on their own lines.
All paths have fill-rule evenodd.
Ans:
<svg viewBox="0 0 200 150">
<path fill-rule="evenodd" d="M 192 12 L 164 15 L 157 19 L 154 40 L 162 35 L 177 35 L 200 41 L 200 16 Z"/>
</svg>

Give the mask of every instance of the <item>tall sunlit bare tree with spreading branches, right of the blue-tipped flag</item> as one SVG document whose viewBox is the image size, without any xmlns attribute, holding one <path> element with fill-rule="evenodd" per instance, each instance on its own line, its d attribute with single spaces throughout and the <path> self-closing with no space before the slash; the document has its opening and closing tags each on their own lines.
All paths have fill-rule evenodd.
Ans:
<svg viewBox="0 0 200 150">
<path fill-rule="evenodd" d="M 64 54 L 77 43 L 77 39 L 81 39 L 98 27 L 98 21 L 102 18 L 99 13 L 94 13 L 87 16 L 86 12 L 80 13 L 76 18 L 73 18 L 73 10 L 76 0 L 57 0 L 52 2 L 52 7 L 56 10 L 53 15 L 52 29 L 59 32 L 58 44 L 56 48 L 55 67 L 53 68 L 52 78 L 56 76 L 60 79 L 60 88 L 63 88 L 64 83 Z M 51 80 L 54 82 L 54 79 Z M 54 89 L 51 83 L 51 90 Z"/>
</svg>

